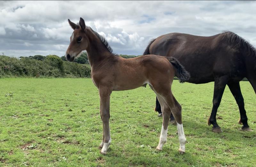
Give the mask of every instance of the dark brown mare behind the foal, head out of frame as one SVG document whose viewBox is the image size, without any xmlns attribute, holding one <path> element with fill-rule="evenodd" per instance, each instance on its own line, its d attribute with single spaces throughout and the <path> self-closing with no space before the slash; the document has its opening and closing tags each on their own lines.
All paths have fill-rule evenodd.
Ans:
<svg viewBox="0 0 256 167">
<path fill-rule="evenodd" d="M 239 84 L 246 77 L 256 93 L 256 49 L 249 42 L 229 31 L 209 37 L 169 33 L 152 40 L 144 54 L 176 58 L 190 73 L 189 83 L 214 82 L 212 113 L 208 119 L 213 132 L 222 132 L 216 114 L 228 85 L 239 107 L 242 130 L 251 131 Z M 161 113 L 157 102 L 156 99 L 156 111 Z"/>
</svg>

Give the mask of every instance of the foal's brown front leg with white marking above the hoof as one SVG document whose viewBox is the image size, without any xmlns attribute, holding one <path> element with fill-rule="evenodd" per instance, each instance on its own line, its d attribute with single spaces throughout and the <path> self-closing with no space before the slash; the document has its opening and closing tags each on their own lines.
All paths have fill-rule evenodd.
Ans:
<svg viewBox="0 0 256 167">
<path fill-rule="evenodd" d="M 101 114 L 103 128 L 104 128 L 103 130 L 104 143 L 100 153 L 106 154 L 111 143 L 110 128 L 109 128 L 109 118 L 110 118 L 109 104 L 110 104 L 111 90 L 108 89 L 107 87 L 100 87 L 99 93 L 100 93 L 100 103 L 101 103 L 100 114 Z"/>
</svg>

